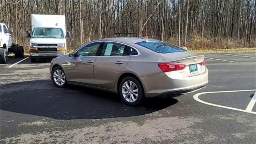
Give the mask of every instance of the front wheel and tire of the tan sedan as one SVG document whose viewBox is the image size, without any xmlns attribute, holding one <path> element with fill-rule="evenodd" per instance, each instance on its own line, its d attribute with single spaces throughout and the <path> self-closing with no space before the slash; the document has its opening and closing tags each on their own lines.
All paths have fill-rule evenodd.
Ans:
<svg viewBox="0 0 256 144">
<path fill-rule="evenodd" d="M 60 66 L 52 70 L 52 82 L 58 88 L 64 88 L 67 85 L 66 75 Z"/>
</svg>

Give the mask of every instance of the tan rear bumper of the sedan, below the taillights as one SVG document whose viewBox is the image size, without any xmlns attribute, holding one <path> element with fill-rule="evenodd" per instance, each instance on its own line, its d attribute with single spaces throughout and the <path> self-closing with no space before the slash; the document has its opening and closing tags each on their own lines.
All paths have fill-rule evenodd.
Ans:
<svg viewBox="0 0 256 144">
<path fill-rule="evenodd" d="M 208 84 L 208 69 L 202 74 L 184 78 L 173 78 L 170 74 L 161 73 L 141 77 L 146 97 L 177 96 L 194 92 Z"/>
</svg>

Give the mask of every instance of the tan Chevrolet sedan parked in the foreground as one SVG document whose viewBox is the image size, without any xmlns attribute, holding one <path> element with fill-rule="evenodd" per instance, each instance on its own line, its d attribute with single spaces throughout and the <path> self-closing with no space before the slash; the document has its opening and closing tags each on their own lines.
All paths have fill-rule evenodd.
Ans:
<svg viewBox="0 0 256 144">
<path fill-rule="evenodd" d="M 107 38 L 89 42 L 52 60 L 51 79 L 114 92 L 129 106 L 145 97 L 177 96 L 208 84 L 204 56 L 166 42 Z"/>
</svg>

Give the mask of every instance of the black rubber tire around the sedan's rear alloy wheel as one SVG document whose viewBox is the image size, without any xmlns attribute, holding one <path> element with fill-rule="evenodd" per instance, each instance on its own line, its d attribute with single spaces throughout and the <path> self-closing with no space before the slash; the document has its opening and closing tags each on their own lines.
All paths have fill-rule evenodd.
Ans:
<svg viewBox="0 0 256 144">
<path fill-rule="evenodd" d="M 123 86 L 124 82 L 126 82 L 128 80 L 134 82 L 134 84 L 136 84 L 136 86 L 138 88 L 138 98 L 135 102 L 126 101 L 124 99 L 124 96 L 122 95 L 122 86 Z M 142 88 L 142 85 L 136 78 L 134 78 L 132 76 L 127 76 L 121 80 L 120 85 L 119 85 L 119 95 L 121 96 L 121 99 L 123 100 L 123 102 L 128 106 L 138 106 L 144 100 L 144 90 Z"/>
</svg>

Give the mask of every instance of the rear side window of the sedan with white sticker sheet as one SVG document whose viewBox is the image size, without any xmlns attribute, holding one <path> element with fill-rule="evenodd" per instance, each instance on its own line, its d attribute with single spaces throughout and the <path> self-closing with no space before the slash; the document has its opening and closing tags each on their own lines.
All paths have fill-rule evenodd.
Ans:
<svg viewBox="0 0 256 144">
<path fill-rule="evenodd" d="M 115 42 L 105 42 L 100 56 L 130 56 L 136 54 L 138 52 L 130 46 Z"/>
</svg>

